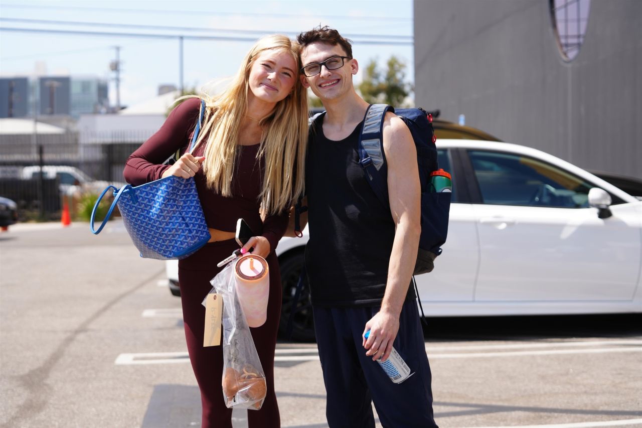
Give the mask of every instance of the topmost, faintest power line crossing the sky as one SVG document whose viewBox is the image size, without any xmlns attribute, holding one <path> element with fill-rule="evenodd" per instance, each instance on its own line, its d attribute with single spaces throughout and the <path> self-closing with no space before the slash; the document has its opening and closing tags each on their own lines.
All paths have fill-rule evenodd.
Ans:
<svg viewBox="0 0 642 428">
<path fill-rule="evenodd" d="M 56 10 L 87 10 L 87 11 L 101 11 L 101 12 L 128 12 L 128 13 L 171 13 L 176 15 L 183 13 L 186 15 L 218 15 L 218 16 L 257 16 L 257 17 L 286 17 L 286 18 L 308 18 L 310 15 L 300 13 L 258 13 L 258 12 L 212 12 L 209 10 L 150 10 L 150 9 L 129 9 L 129 8 L 97 8 L 89 6 L 52 6 L 45 4 L 3 4 L 3 8 L 36 8 L 36 9 L 56 9 Z M 333 19 L 350 19 L 360 21 L 372 21 L 373 19 L 385 21 L 412 21 L 411 17 L 401 16 L 349 16 L 349 15 L 317 15 L 317 17 L 333 18 Z"/>
</svg>

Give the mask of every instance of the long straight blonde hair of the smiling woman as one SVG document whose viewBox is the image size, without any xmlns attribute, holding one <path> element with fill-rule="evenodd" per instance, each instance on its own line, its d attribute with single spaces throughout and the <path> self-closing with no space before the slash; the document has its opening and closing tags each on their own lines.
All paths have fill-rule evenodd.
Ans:
<svg viewBox="0 0 642 428">
<path fill-rule="evenodd" d="M 299 44 L 284 35 L 259 39 L 247 53 L 227 89 L 218 96 L 204 96 L 205 117 L 196 144 L 207 138 L 203 165 L 207 187 L 225 197 L 232 196 L 240 124 L 247 113 L 250 69 L 259 53 L 268 49 L 289 52 L 297 63 L 293 92 L 279 101 L 260 122 L 263 135 L 257 159 L 265 156 L 265 171 L 259 199 L 263 210 L 270 215 L 290 208 L 293 201 L 303 194 L 305 186 L 308 96 L 299 81 Z"/>
</svg>

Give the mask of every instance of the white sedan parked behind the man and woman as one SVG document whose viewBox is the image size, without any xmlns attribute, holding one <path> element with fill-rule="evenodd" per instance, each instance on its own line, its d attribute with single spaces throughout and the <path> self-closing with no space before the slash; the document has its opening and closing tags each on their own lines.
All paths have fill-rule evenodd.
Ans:
<svg viewBox="0 0 642 428">
<path fill-rule="evenodd" d="M 534 148 L 462 139 L 437 148 L 453 202 L 444 252 L 416 278 L 426 316 L 642 312 L 642 201 Z M 282 332 L 307 241 L 304 231 L 277 247 Z M 304 292 L 293 338 L 313 337 Z"/>
</svg>

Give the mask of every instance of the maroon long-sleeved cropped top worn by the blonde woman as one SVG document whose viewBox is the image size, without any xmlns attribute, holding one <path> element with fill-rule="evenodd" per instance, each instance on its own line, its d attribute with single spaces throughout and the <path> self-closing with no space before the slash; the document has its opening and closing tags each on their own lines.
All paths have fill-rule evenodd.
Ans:
<svg viewBox="0 0 642 428">
<path fill-rule="evenodd" d="M 200 100 L 191 98 L 182 102 L 168 116 L 160 129 L 141 145 L 125 163 L 125 180 L 134 186 L 160 179 L 169 165 L 161 165 L 177 150 L 189 145 L 198 121 Z M 222 231 L 235 231 L 236 221 L 243 218 L 256 235 L 265 236 L 274 251 L 288 227 L 288 211 L 269 215 L 265 222 L 259 214 L 259 195 L 263 186 L 265 159 L 257 159 L 259 145 L 239 145 L 238 157 L 232 175 L 232 197 L 207 188 L 203 168 L 195 176 L 207 227 Z M 204 156 L 205 141 L 193 152 Z"/>
</svg>

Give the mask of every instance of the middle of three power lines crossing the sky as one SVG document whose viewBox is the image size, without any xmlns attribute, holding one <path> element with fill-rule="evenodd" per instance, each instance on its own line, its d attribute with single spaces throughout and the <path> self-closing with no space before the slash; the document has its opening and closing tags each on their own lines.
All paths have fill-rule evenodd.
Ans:
<svg viewBox="0 0 642 428">
<path fill-rule="evenodd" d="M 121 27 L 121 28 L 138 28 L 146 30 L 166 30 L 166 31 L 222 31 L 227 33 L 256 34 L 265 35 L 270 33 L 295 34 L 299 31 L 275 31 L 275 30 L 238 30 L 229 28 L 208 28 L 208 27 L 177 27 L 167 25 L 148 25 L 148 24 L 119 24 L 117 22 L 83 22 L 83 21 L 53 21 L 48 19 L 29 19 L 29 18 L 3 18 L 0 21 L 6 22 L 27 22 L 31 24 L 53 24 L 53 25 L 76 25 L 76 26 L 101 26 L 101 27 Z M 412 35 L 399 34 L 345 34 L 345 37 L 374 37 L 383 39 L 412 39 Z"/>
</svg>

